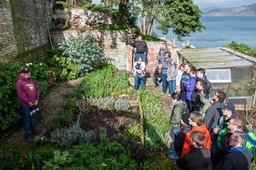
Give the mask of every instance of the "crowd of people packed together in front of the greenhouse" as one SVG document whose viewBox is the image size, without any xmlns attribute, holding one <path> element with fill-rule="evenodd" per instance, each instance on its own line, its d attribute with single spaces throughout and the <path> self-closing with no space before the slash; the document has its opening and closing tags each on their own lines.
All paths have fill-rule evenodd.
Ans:
<svg viewBox="0 0 256 170">
<path fill-rule="evenodd" d="M 252 153 L 245 146 L 247 135 L 235 105 L 224 103 L 226 94 L 220 90 L 209 99 L 212 85 L 204 69 L 195 70 L 188 63 L 179 71 L 180 91 L 171 94 L 169 156 L 177 158 L 181 169 L 207 169 L 210 162 L 216 170 L 248 169 Z"/>
</svg>

